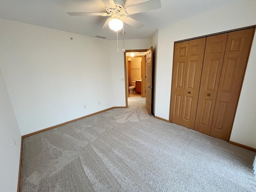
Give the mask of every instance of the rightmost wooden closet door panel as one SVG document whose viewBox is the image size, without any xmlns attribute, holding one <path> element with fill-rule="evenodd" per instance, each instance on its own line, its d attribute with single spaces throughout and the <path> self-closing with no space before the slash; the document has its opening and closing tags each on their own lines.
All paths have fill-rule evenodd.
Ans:
<svg viewBox="0 0 256 192">
<path fill-rule="evenodd" d="M 255 28 L 228 33 L 210 135 L 228 140 Z"/>
</svg>

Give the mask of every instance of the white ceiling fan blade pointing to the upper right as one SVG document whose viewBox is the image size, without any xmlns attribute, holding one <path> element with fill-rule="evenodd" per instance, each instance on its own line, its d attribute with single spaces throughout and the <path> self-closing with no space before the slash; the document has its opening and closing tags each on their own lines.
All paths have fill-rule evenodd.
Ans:
<svg viewBox="0 0 256 192">
<path fill-rule="evenodd" d="M 130 7 L 123 8 L 122 11 L 125 15 L 130 15 L 159 8 L 161 8 L 160 0 L 150 0 Z"/>
</svg>

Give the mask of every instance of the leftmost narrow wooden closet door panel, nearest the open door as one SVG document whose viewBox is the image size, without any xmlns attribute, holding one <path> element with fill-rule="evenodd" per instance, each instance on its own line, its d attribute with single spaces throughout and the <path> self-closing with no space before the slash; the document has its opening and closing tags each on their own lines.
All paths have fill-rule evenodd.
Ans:
<svg viewBox="0 0 256 192">
<path fill-rule="evenodd" d="M 174 47 L 169 121 L 178 125 L 181 121 L 187 58 L 188 41 L 176 43 Z"/>
</svg>

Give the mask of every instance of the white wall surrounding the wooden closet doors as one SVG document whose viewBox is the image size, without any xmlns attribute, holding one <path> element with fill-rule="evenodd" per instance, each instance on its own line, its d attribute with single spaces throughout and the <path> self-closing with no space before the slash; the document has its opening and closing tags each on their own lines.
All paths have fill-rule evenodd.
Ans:
<svg viewBox="0 0 256 192">
<path fill-rule="evenodd" d="M 256 1 L 246 0 L 177 22 L 158 30 L 155 115 L 169 119 L 174 41 L 256 24 Z M 231 141 L 256 148 L 256 40 L 254 39 Z"/>
</svg>

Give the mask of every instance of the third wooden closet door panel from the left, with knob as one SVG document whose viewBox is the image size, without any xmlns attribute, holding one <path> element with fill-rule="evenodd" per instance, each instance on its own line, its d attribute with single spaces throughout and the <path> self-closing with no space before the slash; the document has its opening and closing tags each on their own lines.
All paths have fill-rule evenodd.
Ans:
<svg viewBox="0 0 256 192">
<path fill-rule="evenodd" d="M 228 34 L 207 37 L 194 130 L 210 134 Z"/>
</svg>

